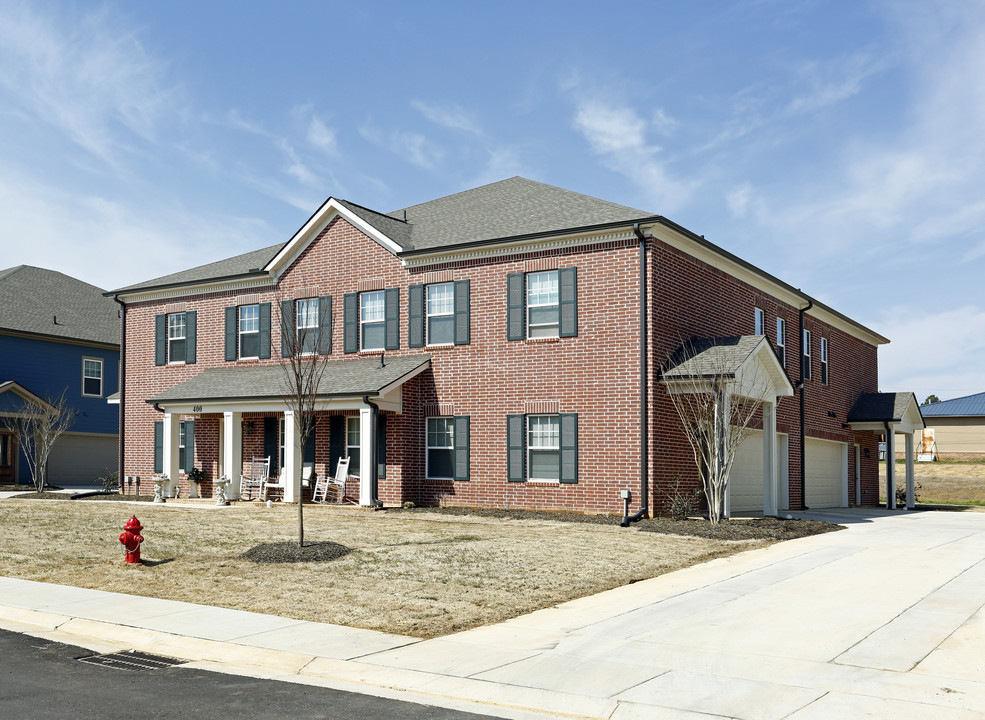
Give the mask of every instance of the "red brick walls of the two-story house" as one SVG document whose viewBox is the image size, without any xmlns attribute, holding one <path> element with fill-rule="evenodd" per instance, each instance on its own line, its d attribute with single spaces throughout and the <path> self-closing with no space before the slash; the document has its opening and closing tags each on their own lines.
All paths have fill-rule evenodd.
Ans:
<svg viewBox="0 0 985 720">
<path fill-rule="evenodd" d="M 123 474 L 152 476 L 154 422 L 161 415 L 146 402 L 208 368 L 280 362 L 280 302 L 331 296 L 331 362 L 375 353 L 343 352 L 343 296 L 365 289 L 399 288 L 400 349 L 386 357 L 431 356 L 431 369 L 402 387 L 402 412 L 385 413 L 386 476 L 379 497 L 386 505 L 416 504 L 569 509 L 622 513 L 620 491 L 631 489 L 634 508 L 640 486 L 640 296 L 639 244 L 631 235 L 566 249 L 493 256 L 407 269 L 388 249 L 342 217 L 336 217 L 279 282 L 248 291 L 195 294 L 130 301 L 126 337 L 126 447 Z M 776 317 L 787 322 L 788 375 L 799 371 L 798 307 L 777 299 L 732 274 L 716 269 L 659 238 L 648 241 L 649 275 L 649 478 L 651 507 L 660 510 L 679 476 L 697 485 L 697 471 L 678 420 L 658 379 L 660 365 L 691 336 L 753 334 L 753 309 L 763 309 L 766 335 L 776 341 Z M 507 276 L 545 269 L 577 268 L 576 337 L 507 339 Z M 408 288 L 416 284 L 470 281 L 471 341 L 465 345 L 408 347 Z M 164 294 L 164 293 L 161 293 Z M 271 303 L 271 358 L 227 362 L 224 311 L 244 303 Z M 194 364 L 155 365 L 155 316 L 197 313 Z M 844 324 L 842 324 L 844 326 Z M 814 337 L 813 380 L 806 383 L 806 434 L 859 444 L 868 459 L 861 468 L 862 501 L 877 500 L 877 439 L 853 433 L 844 424 L 860 393 L 877 390 L 876 347 L 825 324 L 808 313 Z M 830 383 L 822 385 L 820 338 L 830 345 Z M 530 413 L 577 414 L 577 483 L 509 482 L 507 416 Z M 352 413 L 348 413 L 352 414 Z M 316 431 L 315 472 L 334 472 L 329 457 L 328 413 Z M 425 418 L 468 416 L 470 479 L 425 477 Z M 242 457 L 263 453 L 263 415 L 244 413 Z M 800 505 L 799 398 L 779 402 L 778 431 L 789 435 L 790 507 Z M 222 416 L 196 418 L 195 465 L 215 477 Z M 855 502 L 855 456 L 849 457 L 849 500 Z M 187 485 L 182 480 L 183 486 Z M 212 491 L 211 483 L 203 492 Z M 310 493 L 310 488 L 309 491 Z M 347 494 L 359 495 L 358 480 Z"/>
</svg>

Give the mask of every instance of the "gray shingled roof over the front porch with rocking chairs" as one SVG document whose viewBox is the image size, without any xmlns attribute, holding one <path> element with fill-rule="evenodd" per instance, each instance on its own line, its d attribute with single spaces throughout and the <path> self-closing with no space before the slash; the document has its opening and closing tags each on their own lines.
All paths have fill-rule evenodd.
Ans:
<svg viewBox="0 0 985 720">
<path fill-rule="evenodd" d="M 430 362 L 430 355 L 333 360 L 325 365 L 318 395 L 371 395 L 412 374 Z M 283 365 L 211 368 L 164 392 L 148 398 L 148 403 L 192 402 L 200 400 L 255 400 L 285 395 Z"/>
</svg>

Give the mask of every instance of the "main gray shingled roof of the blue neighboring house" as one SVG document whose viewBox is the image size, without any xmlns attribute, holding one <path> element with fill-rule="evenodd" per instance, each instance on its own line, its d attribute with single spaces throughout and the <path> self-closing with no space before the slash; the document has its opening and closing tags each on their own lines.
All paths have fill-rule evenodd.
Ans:
<svg viewBox="0 0 985 720">
<path fill-rule="evenodd" d="M 55 270 L 0 270 L 0 330 L 120 344 L 120 307 L 103 290 Z"/>
</svg>

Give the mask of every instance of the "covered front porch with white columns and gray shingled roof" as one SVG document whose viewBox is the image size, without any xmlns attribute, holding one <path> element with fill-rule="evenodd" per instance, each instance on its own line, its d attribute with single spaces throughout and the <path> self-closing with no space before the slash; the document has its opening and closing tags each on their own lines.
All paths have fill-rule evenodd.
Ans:
<svg viewBox="0 0 985 720">
<path fill-rule="evenodd" d="M 403 385 L 429 368 L 430 356 L 426 355 L 381 356 L 326 364 L 312 407 L 317 417 L 324 417 L 326 413 L 345 414 L 354 421 L 354 434 L 360 438 L 358 446 L 344 443 L 341 452 L 358 453 L 357 462 L 352 464 L 358 466 L 360 505 L 372 506 L 378 498 L 376 451 L 380 415 L 402 413 Z M 202 418 L 201 424 L 210 428 L 215 437 L 204 437 L 196 431 L 199 437 L 194 442 L 200 448 L 203 442 L 214 448 L 215 476 L 229 481 L 226 495 L 230 500 L 242 497 L 242 478 L 249 476 L 251 459 L 265 456 L 270 459 L 270 474 L 279 476 L 278 487 L 283 500 L 297 502 L 303 492 L 302 483 L 313 486 L 316 470 L 313 455 L 307 463 L 305 461 L 299 432 L 301 418 L 288 397 L 284 370 L 280 365 L 253 365 L 209 369 L 149 398 L 147 402 L 162 413 L 161 474 L 169 478 L 173 488 L 180 473 L 190 467 L 183 455 L 194 450 L 185 446 L 182 426 Z M 277 445 L 272 453 L 269 443 L 261 441 L 258 444 L 250 437 L 244 442 L 244 435 L 256 432 L 258 414 L 278 420 Z M 206 418 L 210 422 L 204 422 Z M 313 447 L 314 442 L 312 437 L 309 445 Z M 333 450 L 332 454 L 339 452 L 337 448 Z M 334 475 L 339 458 L 325 453 L 326 448 L 321 448 L 320 454 L 326 458 L 322 473 Z M 309 466 L 307 471 L 305 465 Z"/>
</svg>

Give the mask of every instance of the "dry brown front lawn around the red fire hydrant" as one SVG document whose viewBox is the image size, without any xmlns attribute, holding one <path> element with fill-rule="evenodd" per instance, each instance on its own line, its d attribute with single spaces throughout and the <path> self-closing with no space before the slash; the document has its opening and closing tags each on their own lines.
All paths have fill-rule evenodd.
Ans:
<svg viewBox="0 0 985 720">
<path fill-rule="evenodd" d="M 118 537 L 136 513 L 145 565 Z M 256 564 L 292 540 L 293 506 L 0 502 L 0 575 L 434 637 L 742 550 L 723 541 L 611 525 L 307 507 L 305 539 L 352 552 L 331 562 Z"/>
</svg>

